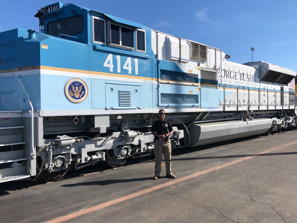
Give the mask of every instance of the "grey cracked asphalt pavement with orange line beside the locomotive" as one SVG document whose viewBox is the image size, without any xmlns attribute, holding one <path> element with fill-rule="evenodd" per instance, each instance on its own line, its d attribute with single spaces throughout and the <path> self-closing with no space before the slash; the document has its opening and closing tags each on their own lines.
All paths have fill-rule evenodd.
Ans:
<svg viewBox="0 0 297 223">
<path fill-rule="evenodd" d="M 176 179 L 150 160 L 2 191 L 0 222 L 297 222 L 296 136 L 180 149 Z"/>
</svg>

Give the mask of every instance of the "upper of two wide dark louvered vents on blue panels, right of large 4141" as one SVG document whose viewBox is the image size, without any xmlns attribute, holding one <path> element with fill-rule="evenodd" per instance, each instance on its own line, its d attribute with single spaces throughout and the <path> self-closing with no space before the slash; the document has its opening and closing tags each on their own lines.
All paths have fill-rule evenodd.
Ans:
<svg viewBox="0 0 297 223">
<path fill-rule="evenodd" d="M 165 81 L 179 81 L 179 82 L 188 82 L 188 83 L 198 83 L 198 74 L 194 73 L 185 73 L 179 71 L 171 70 L 160 70 L 161 80 Z"/>
</svg>

